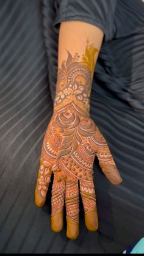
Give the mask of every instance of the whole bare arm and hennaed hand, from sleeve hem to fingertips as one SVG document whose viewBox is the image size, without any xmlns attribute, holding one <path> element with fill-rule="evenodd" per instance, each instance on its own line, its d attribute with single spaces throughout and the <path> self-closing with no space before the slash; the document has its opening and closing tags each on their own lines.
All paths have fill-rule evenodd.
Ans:
<svg viewBox="0 0 144 256">
<path fill-rule="evenodd" d="M 93 184 L 95 156 L 110 182 L 121 183 L 107 142 L 89 114 L 93 70 L 102 40 L 103 33 L 90 24 L 77 21 L 60 26 L 54 113 L 41 150 L 35 203 L 38 207 L 44 205 L 54 175 L 51 228 L 54 232 L 62 230 L 65 203 L 67 237 L 72 240 L 79 235 L 79 192 L 87 229 L 98 229 Z"/>
</svg>

